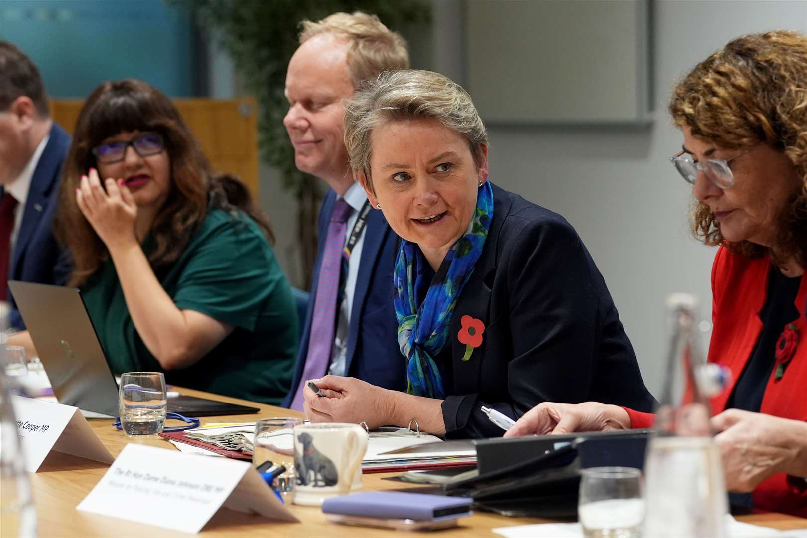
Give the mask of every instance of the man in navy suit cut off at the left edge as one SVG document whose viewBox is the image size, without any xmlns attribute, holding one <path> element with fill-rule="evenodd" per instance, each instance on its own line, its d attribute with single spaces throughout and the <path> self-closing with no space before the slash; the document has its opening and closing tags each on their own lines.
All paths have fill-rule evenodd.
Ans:
<svg viewBox="0 0 807 538">
<path fill-rule="evenodd" d="M 11 303 L 10 324 L 25 328 L 9 280 L 64 284 L 52 234 L 62 161 L 70 137 L 50 119 L 36 65 L 0 41 L 0 301 Z"/>
</svg>

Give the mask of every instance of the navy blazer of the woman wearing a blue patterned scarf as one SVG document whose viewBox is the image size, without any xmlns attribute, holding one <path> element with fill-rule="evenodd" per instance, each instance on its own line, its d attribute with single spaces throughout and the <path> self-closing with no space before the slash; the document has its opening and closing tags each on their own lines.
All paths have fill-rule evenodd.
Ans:
<svg viewBox="0 0 807 538">
<path fill-rule="evenodd" d="M 652 411 L 636 356 L 592 256 L 561 215 L 493 187 L 493 219 L 439 354 L 449 438 L 503 434 L 480 411 L 517 419 L 540 402 L 594 400 Z M 485 324 L 468 361 L 463 315 Z M 450 349 L 448 349 L 450 348 Z M 417 417 L 413 417 L 417 418 Z"/>
</svg>

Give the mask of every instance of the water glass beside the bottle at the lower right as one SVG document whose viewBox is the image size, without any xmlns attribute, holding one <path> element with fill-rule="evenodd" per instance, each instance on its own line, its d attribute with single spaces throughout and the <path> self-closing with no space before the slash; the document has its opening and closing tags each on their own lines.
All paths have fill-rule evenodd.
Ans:
<svg viewBox="0 0 807 538">
<path fill-rule="evenodd" d="M 645 503 L 642 471 L 592 467 L 581 471 L 578 516 L 587 538 L 641 536 Z"/>
</svg>

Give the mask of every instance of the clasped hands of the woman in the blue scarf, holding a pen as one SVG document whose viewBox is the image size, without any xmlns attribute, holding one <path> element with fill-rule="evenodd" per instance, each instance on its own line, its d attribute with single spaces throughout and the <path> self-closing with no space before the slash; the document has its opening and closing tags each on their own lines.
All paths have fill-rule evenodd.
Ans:
<svg viewBox="0 0 807 538">
<path fill-rule="evenodd" d="M 313 382 L 325 396 L 317 396 L 307 385 L 303 389 L 303 410 L 312 422 L 365 422 L 370 429 L 393 422 L 393 391 L 355 377 L 326 375 Z"/>
</svg>

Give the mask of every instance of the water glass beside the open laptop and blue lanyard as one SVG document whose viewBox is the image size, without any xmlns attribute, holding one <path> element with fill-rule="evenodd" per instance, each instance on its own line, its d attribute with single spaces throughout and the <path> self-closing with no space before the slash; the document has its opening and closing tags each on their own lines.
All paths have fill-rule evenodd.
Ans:
<svg viewBox="0 0 807 538">
<path fill-rule="evenodd" d="M 120 376 L 118 412 L 128 436 L 153 436 L 165 425 L 165 375 L 161 372 L 128 372 Z"/>
</svg>

